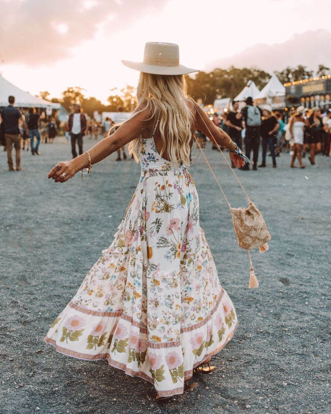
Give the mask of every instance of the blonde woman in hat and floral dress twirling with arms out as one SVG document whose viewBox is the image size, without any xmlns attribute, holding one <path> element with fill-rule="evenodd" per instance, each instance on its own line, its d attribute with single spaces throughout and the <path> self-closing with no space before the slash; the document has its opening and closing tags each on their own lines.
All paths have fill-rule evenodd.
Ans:
<svg viewBox="0 0 331 414">
<path fill-rule="evenodd" d="M 48 174 L 66 182 L 128 143 L 140 161 L 140 180 L 114 241 L 45 341 L 75 358 L 106 359 L 154 384 L 159 398 L 183 393 L 193 369 L 220 351 L 237 327 L 187 171 L 194 130 L 227 147 L 235 166 L 245 162 L 230 137 L 186 96 L 183 74 L 194 70 L 159 58 L 173 50 L 178 46 L 172 43 L 147 43 L 149 58 L 135 64 L 139 102 L 130 119 L 88 154 L 58 163 Z"/>
</svg>

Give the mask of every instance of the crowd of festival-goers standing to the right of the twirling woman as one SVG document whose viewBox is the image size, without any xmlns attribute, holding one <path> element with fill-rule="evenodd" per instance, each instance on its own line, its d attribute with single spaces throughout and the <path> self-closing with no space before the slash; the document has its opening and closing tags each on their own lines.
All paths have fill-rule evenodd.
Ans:
<svg viewBox="0 0 331 414">
<path fill-rule="evenodd" d="M 266 167 L 267 152 L 272 159 L 273 168 L 277 167 L 276 158 L 285 149 L 290 152 L 290 167 L 295 166 L 298 159 L 300 168 L 305 168 L 302 158 L 307 151 L 310 152 L 308 159 L 310 164 L 315 165 L 315 155 L 320 153 L 331 155 L 331 110 L 321 112 L 319 107 L 312 109 L 299 106 L 290 111 L 290 116 L 283 120 L 283 113 L 273 112 L 270 105 L 256 106 L 253 99 L 246 99 L 246 106 L 239 111 L 239 102 L 232 101 L 232 109 L 224 112 L 219 118 L 217 113 L 213 114 L 213 123 L 226 130 L 232 140 L 243 149 L 245 155 L 251 160 L 253 170 Z M 201 142 L 206 137 L 198 134 Z M 258 165 L 259 148 L 262 149 L 261 164 Z M 217 149 L 212 144 L 213 149 Z M 232 165 L 232 167 L 234 167 Z M 241 168 L 249 170 L 249 165 Z"/>
</svg>

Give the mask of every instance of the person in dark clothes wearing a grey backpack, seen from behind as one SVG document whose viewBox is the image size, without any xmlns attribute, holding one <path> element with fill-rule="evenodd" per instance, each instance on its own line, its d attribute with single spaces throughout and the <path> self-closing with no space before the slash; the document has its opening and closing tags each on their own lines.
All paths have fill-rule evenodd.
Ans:
<svg viewBox="0 0 331 414">
<path fill-rule="evenodd" d="M 242 108 L 242 117 L 245 123 L 245 155 L 250 160 L 253 150 L 253 170 L 257 170 L 257 159 L 260 146 L 260 127 L 262 111 L 258 106 L 253 105 L 253 99 L 249 96 L 246 99 L 246 106 Z M 249 170 L 248 164 L 242 169 Z"/>
</svg>

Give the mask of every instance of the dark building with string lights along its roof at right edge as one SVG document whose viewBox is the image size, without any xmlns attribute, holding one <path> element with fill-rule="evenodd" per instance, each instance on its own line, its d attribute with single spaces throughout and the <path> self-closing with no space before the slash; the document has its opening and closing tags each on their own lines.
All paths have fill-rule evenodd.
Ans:
<svg viewBox="0 0 331 414">
<path fill-rule="evenodd" d="M 331 75 L 289 82 L 284 86 L 288 109 L 297 108 L 299 105 L 305 108 L 331 108 Z"/>
</svg>

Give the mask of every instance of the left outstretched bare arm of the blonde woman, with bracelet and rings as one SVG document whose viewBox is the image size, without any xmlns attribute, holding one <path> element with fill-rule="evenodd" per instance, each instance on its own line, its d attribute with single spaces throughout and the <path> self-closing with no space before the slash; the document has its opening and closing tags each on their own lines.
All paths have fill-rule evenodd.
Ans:
<svg viewBox="0 0 331 414">
<path fill-rule="evenodd" d="M 135 113 L 137 113 L 124 122 L 114 134 L 104 138 L 100 142 L 89 149 L 89 156 L 91 157 L 91 164 L 97 164 L 105 159 L 107 156 L 116 152 L 130 141 L 138 138 L 150 124 L 151 110 L 144 109 L 145 104 L 140 104 Z M 89 164 L 87 154 L 82 154 L 72 159 L 71 161 L 61 161 L 48 173 L 48 178 L 53 178 L 55 182 L 65 182 L 73 177 L 82 168 L 86 168 Z M 60 168 L 59 168 L 60 167 Z M 65 178 L 62 174 L 65 173 Z"/>
</svg>

